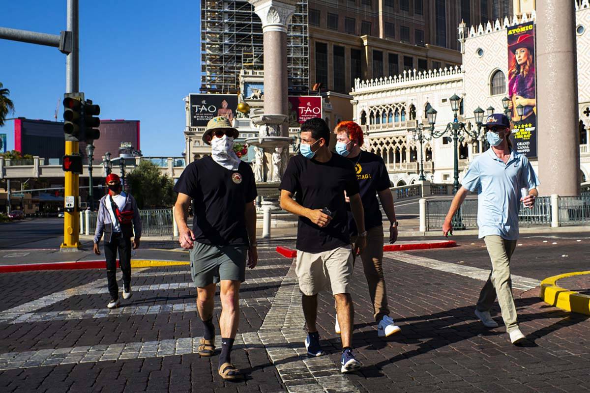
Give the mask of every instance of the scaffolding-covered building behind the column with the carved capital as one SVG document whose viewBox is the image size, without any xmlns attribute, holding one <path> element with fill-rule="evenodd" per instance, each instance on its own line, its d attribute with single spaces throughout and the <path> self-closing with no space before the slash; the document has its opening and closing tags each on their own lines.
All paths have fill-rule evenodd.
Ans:
<svg viewBox="0 0 590 393">
<path fill-rule="evenodd" d="M 297 2 L 287 32 L 289 93 L 309 86 L 307 0 Z M 238 93 L 240 70 L 263 70 L 262 23 L 245 0 L 201 1 L 201 92 Z"/>
</svg>

